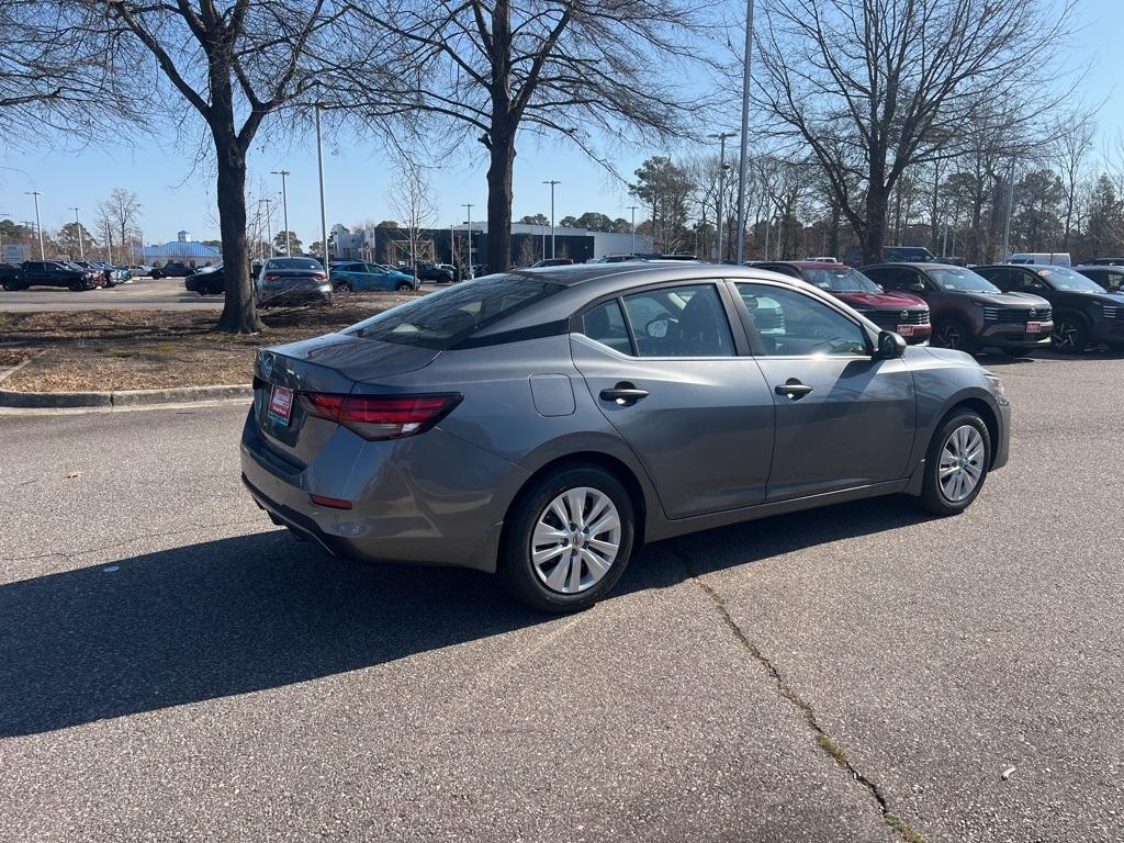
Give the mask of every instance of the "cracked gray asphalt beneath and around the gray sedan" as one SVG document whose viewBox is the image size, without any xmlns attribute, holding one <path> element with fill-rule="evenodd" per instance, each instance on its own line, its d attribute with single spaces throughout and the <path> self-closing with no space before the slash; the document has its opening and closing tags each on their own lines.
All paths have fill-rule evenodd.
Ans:
<svg viewBox="0 0 1124 843">
<path fill-rule="evenodd" d="M 985 362 L 962 516 L 652 545 L 568 618 L 292 542 L 241 406 L 0 416 L 0 840 L 1124 840 L 1124 357 Z"/>
</svg>

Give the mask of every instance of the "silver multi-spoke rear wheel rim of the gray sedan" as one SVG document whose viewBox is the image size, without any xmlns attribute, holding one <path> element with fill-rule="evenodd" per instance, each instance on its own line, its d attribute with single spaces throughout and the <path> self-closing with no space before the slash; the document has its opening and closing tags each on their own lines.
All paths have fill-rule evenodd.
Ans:
<svg viewBox="0 0 1124 843">
<path fill-rule="evenodd" d="M 620 551 L 620 514 L 605 492 L 568 489 L 540 514 L 531 563 L 552 591 L 574 595 L 596 586 Z"/>
</svg>

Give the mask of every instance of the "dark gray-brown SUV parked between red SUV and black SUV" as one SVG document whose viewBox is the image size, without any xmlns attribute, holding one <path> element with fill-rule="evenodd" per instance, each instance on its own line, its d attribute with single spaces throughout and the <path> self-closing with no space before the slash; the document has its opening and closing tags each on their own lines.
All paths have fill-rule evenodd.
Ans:
<svg viewBox="0 0 1124 843">
<path fill-rule="evenodd" d="M 971 270 L 942 263 L 882 263 L 863 274 L 886 290 L 912 292 L 928 302 L 932 344 L 972 354 L 998 346 L 1008 354 L 1050 345 L 1050 302 L 1028 293 L 1003 292 Z"/>
</svg>

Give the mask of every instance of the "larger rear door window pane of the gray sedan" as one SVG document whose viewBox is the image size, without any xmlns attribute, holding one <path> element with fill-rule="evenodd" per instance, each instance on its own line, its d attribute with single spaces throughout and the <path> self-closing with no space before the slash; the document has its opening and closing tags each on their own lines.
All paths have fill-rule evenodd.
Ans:
<svg viewBox="0 0 1124 843">
<path fill-rule="evenodd" d="M 734 355 L 734 335 L 714 284 L 645 290 L 624 302 L 642 357 Z"/>
</svg>

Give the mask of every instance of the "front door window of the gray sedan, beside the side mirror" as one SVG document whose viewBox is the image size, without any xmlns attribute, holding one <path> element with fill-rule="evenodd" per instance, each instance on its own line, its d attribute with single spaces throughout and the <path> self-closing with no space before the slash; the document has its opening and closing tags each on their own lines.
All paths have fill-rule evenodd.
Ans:
<svg viewBox="0 0 1124 843">
<path fill-rule="evenodd" d="M 765 356 L 867 355 L 867 333 L 843 314 L 796 290 L 745 283 L 737 292 Z"/>
</svg>

